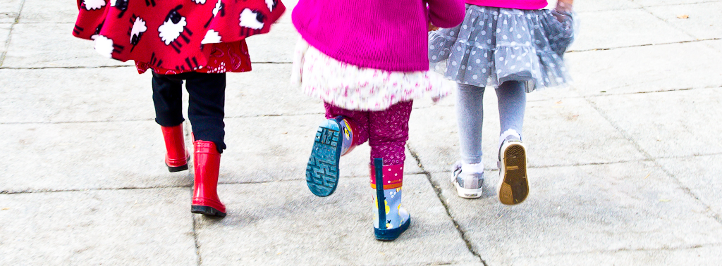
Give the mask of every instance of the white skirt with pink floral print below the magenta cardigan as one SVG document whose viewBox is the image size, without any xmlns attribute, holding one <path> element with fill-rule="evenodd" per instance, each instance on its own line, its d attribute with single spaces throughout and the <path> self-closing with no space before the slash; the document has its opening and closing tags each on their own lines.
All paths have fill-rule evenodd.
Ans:
<svg viewBox="0 0 722 266">
<path fill-rule="evenodd" d="M 386 71 L 336 61 L 301 39 L 292 82 L 305 94 L 347 110 L 380 111 L 422 97 L 444 97 L 456 87 L 433 71 Z"/>
</svg>

